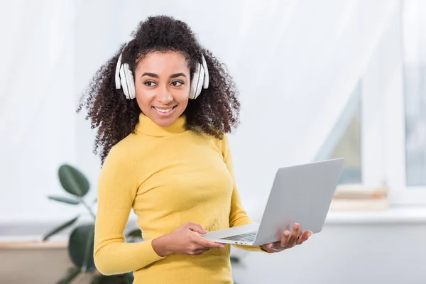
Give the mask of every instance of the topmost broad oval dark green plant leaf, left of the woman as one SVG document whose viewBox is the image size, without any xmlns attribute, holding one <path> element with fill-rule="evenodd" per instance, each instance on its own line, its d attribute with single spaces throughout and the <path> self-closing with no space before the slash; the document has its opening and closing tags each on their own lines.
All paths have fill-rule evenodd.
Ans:
<svg viewBox="0 0 426 284">
<path fill-rule="evenodd" d="M 72 195 L 83 197 L 89 192 L 89 181 L 80 170 L 71 165 L 61 165 L 58 175 L 62 187 Z"/>
</svg>

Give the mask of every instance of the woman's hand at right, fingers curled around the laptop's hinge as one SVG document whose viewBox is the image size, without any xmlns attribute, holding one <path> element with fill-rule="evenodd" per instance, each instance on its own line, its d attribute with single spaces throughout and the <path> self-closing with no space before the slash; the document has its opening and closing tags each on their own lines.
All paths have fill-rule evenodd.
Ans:
<svg viewBox="0 0 426 284">
<path fill-rule="evenodd" d="M 278 253 L 285 249 L 291 249 L 293 246 L 303 244 L 303 242 L 312 236 L 312 231 L 299 232 L 299 228 L 299 224 L 294 224 L 291 234 L 290 231 L 285 230 L 280 241 L 275 241 L 275 243 L 271 244 L 263 244 L 261 249 L 263 249 L 263 251 L 268 251 L 268 253 Z"/>
</svg>

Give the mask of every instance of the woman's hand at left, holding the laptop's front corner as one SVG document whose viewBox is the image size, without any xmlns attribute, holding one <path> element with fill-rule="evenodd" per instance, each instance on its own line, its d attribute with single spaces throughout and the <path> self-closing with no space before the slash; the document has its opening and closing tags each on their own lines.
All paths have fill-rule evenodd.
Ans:
<svg viewBox="0 0 426 284">
<path fill-rule="evenodd" d="M 158 256 L 168 256 L 172 253 L 197 256 L 209 249 L 223 249 L 223 244 L 203 239 L 195 233 L 206 234 L 207 231 L 198 224 L 186 223 L 175 231 L 153 239 L 152 246 Z"/>
</svg>

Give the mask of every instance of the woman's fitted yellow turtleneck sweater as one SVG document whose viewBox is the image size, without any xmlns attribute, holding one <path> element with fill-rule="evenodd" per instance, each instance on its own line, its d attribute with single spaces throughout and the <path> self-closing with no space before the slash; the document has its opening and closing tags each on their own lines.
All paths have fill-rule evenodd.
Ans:
<svg viewBox="0 0 426 284">
<path fill-rule="evenodd" d="M 132 208 L 143 233 L 139 243 L 124 238 Z M 151 241 L 186 222 L 207 231 L 252 223 L 235 185 L 228 140 L 185 130 L 185 116 L 163 128 L 141 114 L 136 133 L 111 148 L 99 176 L 97 269 L 133 271 L 136 284 L 232 283 L 229 245 L 200 256 L 155 253 Z"/>
</svg>

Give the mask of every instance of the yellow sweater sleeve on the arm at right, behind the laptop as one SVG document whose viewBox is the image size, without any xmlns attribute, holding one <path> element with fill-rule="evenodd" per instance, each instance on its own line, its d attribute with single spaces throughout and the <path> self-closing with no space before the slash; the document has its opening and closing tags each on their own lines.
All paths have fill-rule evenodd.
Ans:
<svg viewBox="0 0 426 284">
<path fill-rule="evenodd" d="M 229 226 L 243 226 L 247 224 L 253 224 L 253 220 L 247 215 L 246 210 L 243 207 L 241 202 L 241 197 L 239 195 L 238 187 L 236 186 L 235 175 L 234 175 L 234 163 L 232 161 L 231 149 L 229 146 L 229 141 L 226 135 L 222 142 L 222 154 L 224 156 L 224 162 L 231 173 L 232 178 L 234 179 L 234 190 L 232 191 L 231 197 L 231 212 L 229 214 Z M 260 246 L 241 246 L 233 245 L 239 249 L 244 249 L 245 251 L 263 251 Z"/>
</svg>

